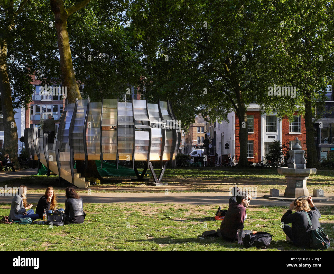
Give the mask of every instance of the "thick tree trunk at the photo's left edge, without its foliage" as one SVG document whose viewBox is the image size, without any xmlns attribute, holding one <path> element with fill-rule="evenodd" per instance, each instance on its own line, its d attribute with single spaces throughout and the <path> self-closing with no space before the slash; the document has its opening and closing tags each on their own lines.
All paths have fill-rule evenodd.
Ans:
<svg viewBox="0 0 334 274">
<path fill-rule="evenodd" d="M 2 155 L 9 154 L 9 159 L 14 162 L 15 169 L 20 169 L 17 159 L 17 126 L 14 119 L 12 95 L 7 73 L 7 42 L 1 41 L 0 52 L 0 91 L 1 108 L 4 125 L 4 141 Z M 1 159 L 3 160 L 3 159 Z"/>
</svg>

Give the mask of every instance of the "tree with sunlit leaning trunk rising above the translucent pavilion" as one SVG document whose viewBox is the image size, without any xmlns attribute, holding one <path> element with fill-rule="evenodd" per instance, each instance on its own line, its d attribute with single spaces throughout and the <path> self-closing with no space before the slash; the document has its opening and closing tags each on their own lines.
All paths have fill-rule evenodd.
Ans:
<svg viewBox="0 0 334 274">
<path fill-rule="evenodd" d="M 123 5 L 107 0 L 75 3 L 71 1 L 73 5 L 65 8 L 62 0 L 50 0 L 68 102 L 81 99 L 78 82 L 85 84 L 92 101 L 124 95 L 126 87 L 139 82 L 141 66 L 121 25 Z M 88 161 L 85 171 L 83 161 L 76 161 L 76 167 L 86 177 L 101 178 L 95 161 Z"/>
</svg>

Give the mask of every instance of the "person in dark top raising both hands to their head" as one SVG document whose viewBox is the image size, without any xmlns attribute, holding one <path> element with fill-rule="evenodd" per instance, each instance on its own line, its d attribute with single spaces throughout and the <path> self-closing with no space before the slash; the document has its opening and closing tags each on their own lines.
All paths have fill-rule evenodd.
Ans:
<svg viewBox="0 0 334 274">
<path fill-rule="evenodd" d="M 309 229 L 309 221 L 303 211 L 309 215 L 314 229 L 320 227 L 321 214 L 315 207 L 311 196 L 302 197 L 290 203 L 290 209 L 284 213 L 281 222 L 288 242 L 297 247 L 309 248 L 312 230 Z M 292 213 L 294 209 L 296 212 Z M 288 223 L 291 223 L 291 226 Z"/>
</svg>

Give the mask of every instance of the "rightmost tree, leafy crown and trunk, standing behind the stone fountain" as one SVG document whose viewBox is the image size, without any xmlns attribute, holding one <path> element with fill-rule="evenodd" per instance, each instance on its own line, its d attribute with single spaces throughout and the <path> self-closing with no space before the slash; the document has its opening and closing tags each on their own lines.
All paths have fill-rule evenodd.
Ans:
<svg viewBox="0 0 334 274">
<path fill-rule="evenodd" d="M 281 116 L 291 115 L 286 108 L 287 99 L 300 106 L 299 113 L 305 118 L 307 165 L 317 168 L 312 118 L 333 79 L 333 1 L 282 1 L 280 10 L 288 12 L 281 13 L 283 26 L 278 36 L 283 45 L 280 59 L 285 73 L 278 75 L 277 81 L 295 86 L 297 93 L 296 98 L 284 98 L 278 109 Z"/>
</svg>

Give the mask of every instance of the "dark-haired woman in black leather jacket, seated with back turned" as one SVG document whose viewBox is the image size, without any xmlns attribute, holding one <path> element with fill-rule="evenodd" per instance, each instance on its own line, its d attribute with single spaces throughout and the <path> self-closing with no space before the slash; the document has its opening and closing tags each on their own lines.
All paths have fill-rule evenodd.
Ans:
<svg viewBox="0 0 334 274">
<path fill-rule="evenodd" d="M 86 213 L 83 212 L 83 200 L 73 187 L 66 188 L 64 223 L 83 223 Z"/>
</svg>

